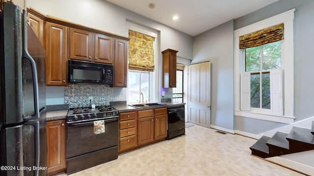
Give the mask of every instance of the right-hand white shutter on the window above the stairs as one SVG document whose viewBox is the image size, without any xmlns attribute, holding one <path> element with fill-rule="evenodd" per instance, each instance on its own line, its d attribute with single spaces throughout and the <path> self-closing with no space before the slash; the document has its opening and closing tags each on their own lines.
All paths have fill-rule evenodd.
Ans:
<svg viewBox="0 0 314 176">
<path fill-rule="evenodd" d="M 282 70 L 270 70 L 270 110 L 274 115 L 284 115 Z"/>
</svg>

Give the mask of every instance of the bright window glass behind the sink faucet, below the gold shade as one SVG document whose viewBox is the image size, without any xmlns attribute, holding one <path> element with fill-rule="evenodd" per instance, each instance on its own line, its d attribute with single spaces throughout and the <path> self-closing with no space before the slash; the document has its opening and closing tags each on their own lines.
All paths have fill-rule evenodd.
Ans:
<svg viewBox="0 0 314 176">
<path fill-rule="evenodd" d="M 129 101 L 142 101 L 140 93 L 143 93 L 143 100 L 150 101 L 150 72 L 129 70 Z"/>
</svg>

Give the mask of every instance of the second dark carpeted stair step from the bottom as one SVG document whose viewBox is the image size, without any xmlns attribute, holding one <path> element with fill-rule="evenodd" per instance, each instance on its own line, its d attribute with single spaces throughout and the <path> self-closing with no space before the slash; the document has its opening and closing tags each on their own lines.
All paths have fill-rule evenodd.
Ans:
<svg viewBox="0 0 314 176">
<path fill-rule="evenodd" d="M 286 139 L 288 133 L 276 132 L 267 142 L 269 154 L 279 156 L 289 154 L 289 141 Z"/>
</svg>

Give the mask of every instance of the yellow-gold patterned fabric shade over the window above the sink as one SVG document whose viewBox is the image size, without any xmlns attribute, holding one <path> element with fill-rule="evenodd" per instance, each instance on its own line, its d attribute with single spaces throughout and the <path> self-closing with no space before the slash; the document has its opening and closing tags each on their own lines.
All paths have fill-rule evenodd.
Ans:
<svg viewBox="0 0 314 176">
<path fill-rule="evenodd" d="M 154 71 L 155 38 L 129 30 L 129 69 Z"/>
</svg>

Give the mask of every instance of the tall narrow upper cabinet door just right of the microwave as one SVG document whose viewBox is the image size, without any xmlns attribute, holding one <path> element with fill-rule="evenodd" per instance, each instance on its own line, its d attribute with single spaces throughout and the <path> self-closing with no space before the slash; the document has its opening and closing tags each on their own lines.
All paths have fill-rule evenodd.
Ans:
<svg viewBox="0 0 314 176">
<path fill-rule="evenodd" d="M 128 41 L 115 40 L 114 87 L 126 88 L 128 79 Z"/>
</svg>

